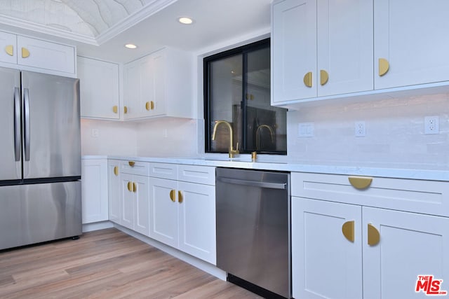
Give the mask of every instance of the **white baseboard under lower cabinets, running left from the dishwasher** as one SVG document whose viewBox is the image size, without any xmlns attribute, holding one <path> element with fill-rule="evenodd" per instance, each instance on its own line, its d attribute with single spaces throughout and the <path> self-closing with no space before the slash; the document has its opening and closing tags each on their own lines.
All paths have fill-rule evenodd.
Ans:
<svg viewBox="0 0 449 299">
<path fill-rule="evenodd" d="M 170 254 L 170 256 L 179 258 L 180 260 L 183 260 L 186 263 L 189 263 L 190 265 L 193 265 L 194 267 L 197 267 L 200 270 L 203 270 L 204 272 L 207 272 L 210 275 L 217 277 L 218 279 L 226 280 L 226 272 L 221 269 L 218 269 L 215 265 L 212 265 L 210 263 L 205 262 L 204 260 L 200 260 L 199 258 L 195 258 L 194 256 L 191 256 L 187 253 L 174 249 L 173 247 L 158 242 L 155 239 L 151 239 L 147 236 L 140 235 L 140 233 L 135 232 L 133 230 L 129 230 L 128 228 L 124 228 L 123 226 L 118 225 L 116 223 L 113 223 L 112 225 L 114 225 L 114 228 L 117 228 L 118 230 L 121 230 L 122 232 L 125 232 L 128 235 L 135 237 L 136 239 L 140 239 L 140 241 L 145 242 L 151 246 L 156 247 L 157 249 L 160 249 L 161 251 Z"/>
</svg>

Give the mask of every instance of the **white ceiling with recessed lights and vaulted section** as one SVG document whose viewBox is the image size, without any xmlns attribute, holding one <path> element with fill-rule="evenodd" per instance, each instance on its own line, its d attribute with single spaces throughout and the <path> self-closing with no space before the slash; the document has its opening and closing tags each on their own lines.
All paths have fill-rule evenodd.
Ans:
<svg viewBox="0 0 449 299">
<path fill-rule="evenodd" d="M 192 52 L 269 33 L 271 0 L 1 0 L 0 29 L 129 62 L 161 46 Z M 177 18 L 188 16 L 192 25 Z M 126 43 L 138 48 L 129 50 Z"/>
</svg>

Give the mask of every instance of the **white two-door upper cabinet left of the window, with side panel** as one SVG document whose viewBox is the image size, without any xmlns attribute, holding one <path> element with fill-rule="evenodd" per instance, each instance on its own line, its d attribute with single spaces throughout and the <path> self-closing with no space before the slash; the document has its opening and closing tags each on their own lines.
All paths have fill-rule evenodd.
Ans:
<svg viewBox="0 0 449 299">
<path fill-rule="evenodd" d="M 123 70 L 124 119 L 193 117 L 193 56 L 163 48 Z"/>
</svg>

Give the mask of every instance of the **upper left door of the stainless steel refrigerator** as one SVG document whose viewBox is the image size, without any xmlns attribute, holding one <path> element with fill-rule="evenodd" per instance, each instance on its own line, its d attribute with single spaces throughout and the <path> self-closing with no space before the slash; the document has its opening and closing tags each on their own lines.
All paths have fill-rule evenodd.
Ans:
<svg viewBox="0 0 449 299">
<path fill-rule="evenodd" d="M 0 68 L 0 181 L 22 179 L 20 72 Z"/>
</svg>

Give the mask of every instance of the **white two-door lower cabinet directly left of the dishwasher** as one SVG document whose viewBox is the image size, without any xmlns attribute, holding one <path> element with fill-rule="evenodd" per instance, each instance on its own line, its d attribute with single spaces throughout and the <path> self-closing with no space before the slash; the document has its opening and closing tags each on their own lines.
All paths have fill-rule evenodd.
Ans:
<svg viewBox="0 0 449 299">
<path fill-rule="evenodd" d="M 150 179 L 149 237 L 215 265 L 215 186 L 206 185 L 215 180 L 211 180 L 215 178 L 215 167 L 177 167 L 179 179 L 189 181 Z"/>
</svg>

